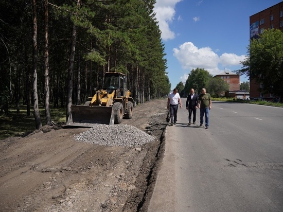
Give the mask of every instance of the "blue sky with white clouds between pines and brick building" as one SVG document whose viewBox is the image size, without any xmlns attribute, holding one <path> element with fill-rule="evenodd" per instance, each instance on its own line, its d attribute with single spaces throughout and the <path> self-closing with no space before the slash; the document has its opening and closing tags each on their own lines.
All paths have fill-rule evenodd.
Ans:
<svg viewBox="0 0 283 212">
<path fill-rule="evenodd" d="M 165 44 L 173 89 L 191 69 L 215 76 L 240 69 L 250 38 L 250 16 L 277 0 L 156 0 L 154 11 Z M 248 81 L 246 76 L 240 82 Z"/>
</svg>

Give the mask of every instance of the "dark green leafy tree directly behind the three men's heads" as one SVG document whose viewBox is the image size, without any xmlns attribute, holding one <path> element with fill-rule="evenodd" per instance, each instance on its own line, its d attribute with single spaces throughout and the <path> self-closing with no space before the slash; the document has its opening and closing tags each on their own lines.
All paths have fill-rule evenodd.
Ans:
<svg viewBox="0 0 283 212">
<path fill-rule="evenodd" d="M 201 89 L 206 87 L 211 78 L 213 78 L 213 76 L 204 68 L 192 69 L 186 80 L 184 92 L 188 94 L 190 89 L 194 89 L 196 93 L 200 94 Z"/>
</svg>

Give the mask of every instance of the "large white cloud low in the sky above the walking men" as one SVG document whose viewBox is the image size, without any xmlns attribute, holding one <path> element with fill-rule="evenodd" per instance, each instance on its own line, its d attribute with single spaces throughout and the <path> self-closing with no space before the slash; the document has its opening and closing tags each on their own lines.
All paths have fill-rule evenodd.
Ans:
<svg viewBox="0 0 283 212">
<path fill-rule="evenodd" d="M 224 70 L 219 69 L 219 65 L 225 66 L 225 70 L 229 71 L 226 66 L 240 65 L 245 56 L 237 56 L 235 54 L 224 53 L 220 57 L 210 47 L 198 48 L 191 42 L 183 43 L 179 48 L 173 49 L 173 56 L 178 59 L 182 68 L 191 71 L 191 69 L 204 68 L 211 75 L 217 75 Z M 186 80 L 186 75 L 181 80 Z"/>
</svg>

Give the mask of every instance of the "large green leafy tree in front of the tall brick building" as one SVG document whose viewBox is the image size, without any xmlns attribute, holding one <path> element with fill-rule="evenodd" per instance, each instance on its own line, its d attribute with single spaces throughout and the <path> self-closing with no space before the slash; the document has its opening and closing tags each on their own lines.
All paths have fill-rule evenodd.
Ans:
<svg viewBox="0 0 283 212">
<path fill-rule="evenodd" d="M 271 93 L 283 102 L 283 32 L 279 29 L 264 30 L 247 48 L 247 57 L 241 62 L 237 74 L 246 74 L 262 83 L 262 93 Z"/>
</svg>

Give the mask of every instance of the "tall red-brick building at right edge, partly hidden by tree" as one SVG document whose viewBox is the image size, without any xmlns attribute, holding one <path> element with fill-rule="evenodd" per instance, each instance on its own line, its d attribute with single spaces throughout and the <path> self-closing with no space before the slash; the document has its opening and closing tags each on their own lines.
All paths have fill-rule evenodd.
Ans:
<svg viewBox="0 0 283 212">
<path fill-rule="evenodd" d="M 283 2 L 250 16 L 250 39 L 258 38 L 258 35 L 263 33 L 264 29 L 280 29 L 283 31 Z M 262 97 L 266 100 L 274 98 L 273 94 L 260 93 L 260 88 L 262 88 L 261 83 L 251 80 L 250 97 Z"/>
</svg>

